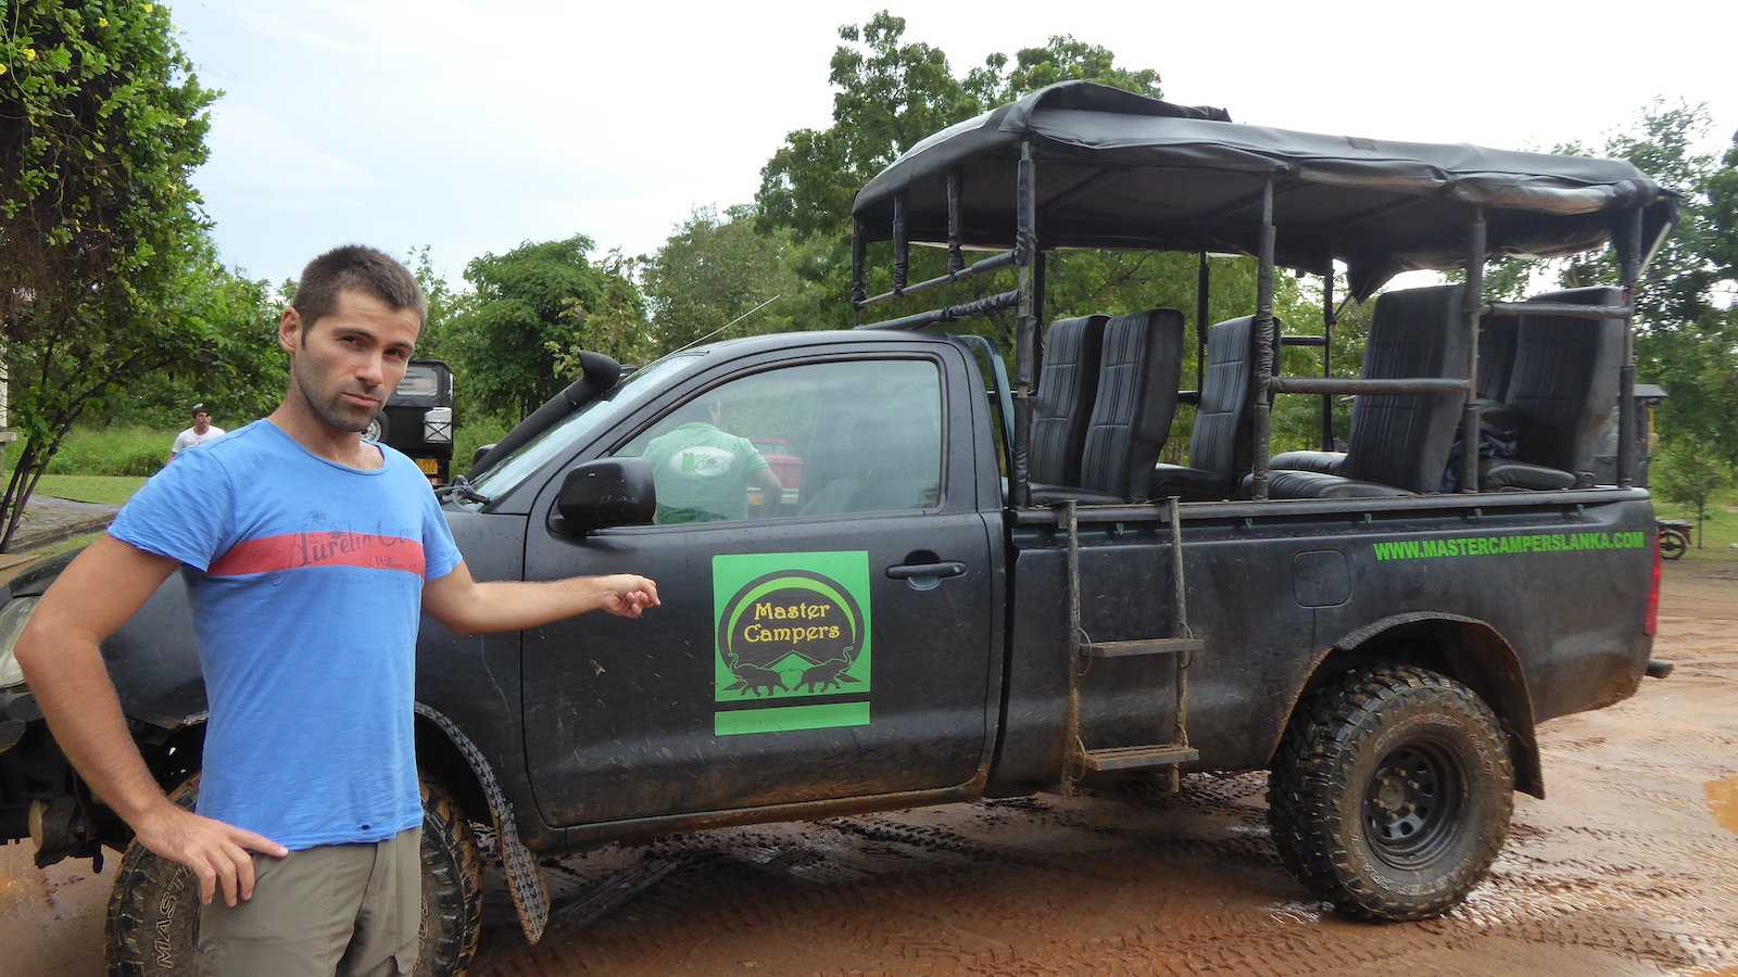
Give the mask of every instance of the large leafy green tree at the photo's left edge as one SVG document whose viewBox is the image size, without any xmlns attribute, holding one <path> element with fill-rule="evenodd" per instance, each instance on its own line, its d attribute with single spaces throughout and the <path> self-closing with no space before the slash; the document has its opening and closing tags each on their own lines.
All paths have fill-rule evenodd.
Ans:
<svg viewBox="0 0 1738 977">
<path fill-rule="evenodd" d="M 257 362 L 250 287 L 219 268 L 191 184 L 216 97 L 165 7 L 23 0 L 0 19 L 0 339 L 23 435 L 0 549 L 116 384 Z"/>
</svg>

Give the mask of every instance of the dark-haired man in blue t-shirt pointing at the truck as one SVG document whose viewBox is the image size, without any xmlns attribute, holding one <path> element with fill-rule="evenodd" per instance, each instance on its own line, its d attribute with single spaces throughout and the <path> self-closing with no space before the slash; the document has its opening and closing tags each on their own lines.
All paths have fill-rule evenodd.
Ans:
<svg viewBox="0 0 1738 977">
<path fill-rule="evenodd" d="M 151 478 L 17 643 L 83 779 L 139 843 L 196 874 L 205 974 L 410 970 L 422 612 L 483 633 L 659 603 L 652 581 L 626 574 L 471 579 L 415 462 L 358 436 L 403 377 L 424 313 L 386 254 L 341 247 L 309 263 L 278 325 L 290 358 L 278 409 Z M 177 570 L 210 702 L 196 814 L 156 786 L 99 652 Z M 255 867 L 249 852 L 266 857 Z"/>
</svg>

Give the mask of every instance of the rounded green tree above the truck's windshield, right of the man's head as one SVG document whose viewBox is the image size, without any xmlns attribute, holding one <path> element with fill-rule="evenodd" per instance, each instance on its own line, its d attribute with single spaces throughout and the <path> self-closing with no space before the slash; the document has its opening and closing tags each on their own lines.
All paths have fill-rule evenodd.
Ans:
<svg viewBox="0 0 1738 977">
<path fill-rule="evenodd" d="M 462 363 L 483 410 L 525 417 L 574 379 L 577 349 L 622 362 L 650 349 L 645 299 L 631 263 L 594 264 L 591 238 L 527 242 L 464 268 L 471 296 L 443 329 L 440 349 Z"/>
</svg>

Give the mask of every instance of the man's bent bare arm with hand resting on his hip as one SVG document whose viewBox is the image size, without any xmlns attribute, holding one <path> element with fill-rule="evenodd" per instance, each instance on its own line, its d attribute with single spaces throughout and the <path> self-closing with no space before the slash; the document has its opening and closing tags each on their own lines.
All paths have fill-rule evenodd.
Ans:
<svg viewBox="0 0 1738 977">
<path fill-rule="evenodd" d="M 181 862 L 200 878 L 210 902 L 254 894 L 254 862 L 247 848 L 268 855 L 287 850 L 252 831 L 198 817 L 163 796 L 139 756 L 120 699 L 103 664 L 108 640 L 176 570 L 167 556 L 144 553 L 109 535 L 99 537 L 61 572 L 17 640 L 17 664 L 49 720 L 54 741 L 104 803 L 139 841 Z"/>
</svg>

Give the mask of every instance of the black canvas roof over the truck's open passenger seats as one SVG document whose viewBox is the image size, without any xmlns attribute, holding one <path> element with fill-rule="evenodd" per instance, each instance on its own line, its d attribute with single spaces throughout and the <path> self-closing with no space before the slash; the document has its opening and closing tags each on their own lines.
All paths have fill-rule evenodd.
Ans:
<svg viewBox="0 0 1738 977">
<path fill-rule="evenodd" d="M 1022 141 L 1038 160 L 1045 249 L 1251 254 L 1274 174 L 1277 264 L 1319 273 L 1337 257 L 1359 297 L 1399 271 L 1460 268 L 1472 205 L 1486 209 L 1491 256 L 1597 247 L 1632 207 L 1646 207 L 1649 254 L 1675 216 L 1675 195 L 1622 160 L 1237 125 L 1222 110 L 1062 82 L 907 150 L 857 195 L 864 238 L 892 236 L 904 193 L 907 238 L 944 243 L 958 170 L 963 243 L 1010 247 Z"/>
</svg>

